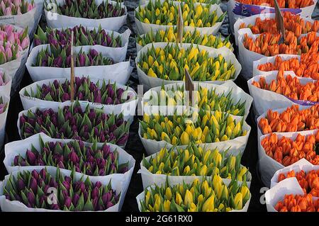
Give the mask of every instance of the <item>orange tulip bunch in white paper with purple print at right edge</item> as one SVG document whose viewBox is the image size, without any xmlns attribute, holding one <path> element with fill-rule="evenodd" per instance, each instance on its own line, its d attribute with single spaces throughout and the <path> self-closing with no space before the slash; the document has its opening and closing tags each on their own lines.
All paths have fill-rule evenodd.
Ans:
<svg viewBox="0 0 319 226">
<path fill-rule="evenodd" d="M 247 83 L 258 115 L 270 108 L 289 107 L 293 103 L 310 106 L 319 101 L 319 81 L 299 78 L 290 72 L 269 72 Z"/>
</svg>

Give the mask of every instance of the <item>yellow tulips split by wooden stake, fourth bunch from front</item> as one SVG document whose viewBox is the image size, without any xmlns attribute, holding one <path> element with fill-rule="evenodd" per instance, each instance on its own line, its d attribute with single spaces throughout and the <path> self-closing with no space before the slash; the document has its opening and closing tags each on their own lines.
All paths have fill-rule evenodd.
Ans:
<svg viewBox="0 0 319 226">
<path fill-rule="evenodd" d="M 206 111 L 223 111 L 232 115 L 245 115 L 245 101 L 233 100 L 232 91 L 227 94 L 218 94 L 216 89 L 208 89 L 206 87 L 197 86 L 195 92 L 196 108 L 202 108 Z M 163 102 L 162 102 L 163 101 Z M 165 89 L 162 86 L 160 91 L 152 91 L 150 101 L 145 102 L 145 105 L 152 106 L 185 106 L 188 99 L 184 85 L 170 89 Z"/>
</svg>

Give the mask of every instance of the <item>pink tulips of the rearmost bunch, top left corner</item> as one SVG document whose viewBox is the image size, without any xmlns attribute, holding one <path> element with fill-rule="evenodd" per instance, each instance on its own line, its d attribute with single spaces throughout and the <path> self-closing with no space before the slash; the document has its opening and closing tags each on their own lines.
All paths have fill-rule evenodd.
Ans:
<svg viewBox="0 0 319 226">
<path fill-rule="evenodd" d="M 1 0 L 0 16 L 22 15 L 35 8 L 34 1 L 28 0 Z"/>
</svg>

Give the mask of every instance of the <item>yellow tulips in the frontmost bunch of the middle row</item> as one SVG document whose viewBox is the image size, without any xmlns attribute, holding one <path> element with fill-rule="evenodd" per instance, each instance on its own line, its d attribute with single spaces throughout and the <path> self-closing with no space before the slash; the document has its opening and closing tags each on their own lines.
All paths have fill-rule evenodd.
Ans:
<svg viewBox="0 0 319 226">
<path fill-rule="evenodd" d="M 239 185 L 236 180 L 228 186 L 220 176 L 193 183 L 179 183 L 170 186 L 152 186 L 138 196 L 142 212 L 228 212 L 247 211 L 250 190 L 244 181 Z"/>
</svg>

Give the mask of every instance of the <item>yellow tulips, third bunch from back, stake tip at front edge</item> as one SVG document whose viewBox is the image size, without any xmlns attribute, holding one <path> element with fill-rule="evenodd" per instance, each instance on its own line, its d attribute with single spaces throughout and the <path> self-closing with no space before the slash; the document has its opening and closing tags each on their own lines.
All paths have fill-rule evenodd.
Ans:
<svg viewBox="0 0 319 226">
<path fill-rule="evenodd" d="M 236 71 L 222 55 L 210 57 L 198 46 L 183 48 L 173 44 L 148 48 L 140 55 L 138 67 L 149 77 L 170 81 L 184 80 L 185 69 L 194 81 L 226 81 L 234 79 Z"/>
</svg>

